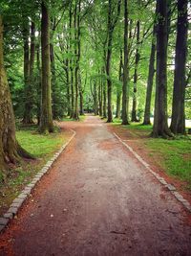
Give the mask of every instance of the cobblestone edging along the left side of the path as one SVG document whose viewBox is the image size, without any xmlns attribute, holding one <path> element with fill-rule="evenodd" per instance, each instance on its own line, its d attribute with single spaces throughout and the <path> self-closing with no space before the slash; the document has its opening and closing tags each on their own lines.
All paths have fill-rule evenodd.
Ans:
<svg viewBox="0 0 191 256">
<path fill-rule="evenodd" d="M 46 165 L 33 177 L 32 182 L 30 184 L 28 184 L 25 187 L 25 189 L 21 192 L 21 194 L 12 201 L 11 206 L 10 206 L 9 210 L 7 211 L 7 213 L 5 213 L 2 218 L 0 218 L 0 232 L 4 230 L 4 228 L 8 225 L 8 223 L 11 221 L 11 219 L 13 219 L 13 217 L 17 214 L 17 212 L 19 211 L 19 209 L 22 206 L 22 204 L 24 203 L 24 201 L 31 195 L 32 189 L 40 181 L 41 177 L 43 175 L 45 175 L 51 169 L 53 162 L 58 158 L 60 153 L 62 151 L 64 151 L 64 149 L 73 140 L 76 132 L 73 129 L 71 129 L 71 130 L 73 131 L 74 134 L 69 139 L 69 141 L 67 143 L 65 143 L 59 151 L 54 153 L 51 160 L 49 160 L 46 163 Z"/>
</svg>

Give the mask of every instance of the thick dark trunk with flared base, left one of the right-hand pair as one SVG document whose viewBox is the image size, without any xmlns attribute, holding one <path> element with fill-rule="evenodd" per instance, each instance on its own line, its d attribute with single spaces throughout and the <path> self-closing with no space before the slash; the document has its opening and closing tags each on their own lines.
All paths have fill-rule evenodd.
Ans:
<svg viewBox="0 0 191 256">
<path fill-rule="evenodd" d="M 154 137 L 162 136 L 167 138 L 172 136 L 167 123 L 167 44 L 168 44 L 168 26 L 167 26 L 167 1 L 157 1 L 157 75 L 156 75 L 156 101 L 155 116 L 152 135 Z"/>
</svg>

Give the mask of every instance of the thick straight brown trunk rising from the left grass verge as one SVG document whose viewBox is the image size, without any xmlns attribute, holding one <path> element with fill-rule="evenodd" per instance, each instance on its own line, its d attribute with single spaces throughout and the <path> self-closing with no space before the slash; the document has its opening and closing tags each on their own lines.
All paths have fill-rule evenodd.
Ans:
<svg viewBox="0 0 191 256">
<path fill-rule="evenodd" d="M 41 47 L 42 47 L 42 104 L 40 132 L 53 132 L 50 59 L 50 16 L 48 3 L 42 2 Z"/>
</svg>

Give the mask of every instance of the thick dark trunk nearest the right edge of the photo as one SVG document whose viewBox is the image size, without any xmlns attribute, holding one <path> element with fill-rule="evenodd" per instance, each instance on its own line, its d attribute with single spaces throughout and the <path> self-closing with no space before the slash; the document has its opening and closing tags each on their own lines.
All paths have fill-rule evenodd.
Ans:
<svg viewBox="0 0 191 256">
<path fill-rule="evenodd" d="M 187 0 L 178 0 L 178 21 L 177 21 L 177 41 L 175 56 L 174 90 L 171 131 L 175 134 L 185 133 L 185 64 L 187 54 Z"/>
</svg>

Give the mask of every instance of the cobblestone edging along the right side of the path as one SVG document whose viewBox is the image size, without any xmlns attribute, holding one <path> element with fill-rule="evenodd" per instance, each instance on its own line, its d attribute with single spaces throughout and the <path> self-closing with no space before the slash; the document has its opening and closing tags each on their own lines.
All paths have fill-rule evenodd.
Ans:
<svg viewBox="0 0 191 256">
<path fill-rule="evenodd" d="M 167 188 L 172 195 L 175 196 L 175 198 L 177 198 L 181 204 L 191 213 L 191 205 L 189 203 L 188 200 L 186 200 L 185 198 L 183 198 L 179 192 L 177 192 L 177 189 L 176 187 L 174 187 L 173 185 L 169 184 L 166 182 L 166 180 L 159 176 L 157 173 L 155 173 L 153 170 L 151 170 L 150 166 L 148 163 L 146 163 L 139 155 L 136 151 L 134 151 L 129 145 L 127 145 L 125 142 L 123 142 L 121 140 L 120 137 L 117 136 L 117 134 L 114 132 L 114 135 L 117 137 L 117 139 L 119 140 L 119 142 L 121 142 L 129 151 L 131 151 L 135 156 L 136 158 L 138 159 L 138 161 L 152 174 L 154 175 L 158 180 L 159 182 L 165 187 Z"/>
</svg>

